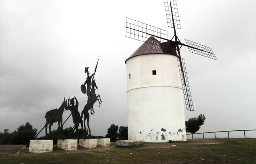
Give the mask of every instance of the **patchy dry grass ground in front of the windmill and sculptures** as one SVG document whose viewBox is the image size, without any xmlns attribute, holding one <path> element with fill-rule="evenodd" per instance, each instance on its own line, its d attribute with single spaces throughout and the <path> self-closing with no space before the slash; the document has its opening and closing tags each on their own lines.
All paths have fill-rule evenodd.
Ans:
<svg viewBox="0 0 256 164">
<path fill-rule="evenodd" d="M 219 143 L 219 144 L 211 144 Z M 173 146 L 175 145 L 175 146 Z M 10 149 L 10 147 L 11 149 Z M 4 149 L 4 147 L 6 149 Z M 23 148 L 23 149 L 22 149 Z M 20 151 L 19 154 L 17 152 Z M 24 145 L 0 145 L 0 163 L 256 163 L 256 139 L 192 140 L 184 143 L 145 143 L 143 147 L 110 147 L 50 153 L 28 153 Z"/>
</svg>

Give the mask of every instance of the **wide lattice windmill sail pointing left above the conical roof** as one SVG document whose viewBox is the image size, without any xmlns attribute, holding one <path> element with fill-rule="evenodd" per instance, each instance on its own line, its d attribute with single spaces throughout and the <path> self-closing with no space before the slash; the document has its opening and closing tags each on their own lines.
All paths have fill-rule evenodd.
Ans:
<svg viewBox="0 0 256 164">
<path fill-rule="evenodd" d="M 161 43 L 168 41 L 166 30 L 126 17 L 126 37 L 145 42 L 151 36 Z"/>
</svg>

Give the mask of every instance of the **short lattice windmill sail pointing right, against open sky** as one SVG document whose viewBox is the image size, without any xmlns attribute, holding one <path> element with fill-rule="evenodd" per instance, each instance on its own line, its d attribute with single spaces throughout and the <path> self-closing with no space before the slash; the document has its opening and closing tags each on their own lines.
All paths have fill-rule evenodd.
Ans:
<svg viewBox="0 0 256 164">
<path fill-rule="evenodd" d="M 185 46 L 189 48 L 189 52 L 217 60 L 212 48 L 187 39 L 185 41 L 187 43 Z"/>
</svg>

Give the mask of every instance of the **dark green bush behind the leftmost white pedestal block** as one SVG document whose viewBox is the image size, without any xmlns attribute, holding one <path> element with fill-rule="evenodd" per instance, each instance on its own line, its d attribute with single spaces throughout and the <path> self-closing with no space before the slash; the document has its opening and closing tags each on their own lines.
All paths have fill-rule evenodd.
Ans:
<svg viewBox="0 0 256 164">
<path fill-rule="evenodd" d="M 37 129 L 34 128 L 30 123 L 26 123 L 25 125 L 20 125 L 20 127 L 17 128 L 17 131 L 15 130 L 11 136 L 12 136 L 12 143 L 13 144 L 29 144 L 30 140 L 35 139 L 35 135 L 37 134 Z"/>
</svg>

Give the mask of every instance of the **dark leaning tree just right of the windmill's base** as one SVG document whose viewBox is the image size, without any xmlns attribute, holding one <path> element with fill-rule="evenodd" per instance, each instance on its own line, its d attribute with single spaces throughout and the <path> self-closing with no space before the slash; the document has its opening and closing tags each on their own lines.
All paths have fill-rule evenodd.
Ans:
<svg viewBox="0 0 256 164">
<path fill-rule="evenodd" d="M 191 117 L 188 121 L 185 121 L 186 124 L 186 132 L 194 134 L 197 132 L 200 127 L 204 124 L 204 114 L 199 114 L 198 117 Z"/>
</svg>

